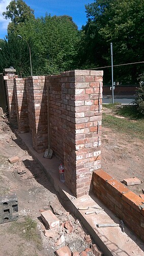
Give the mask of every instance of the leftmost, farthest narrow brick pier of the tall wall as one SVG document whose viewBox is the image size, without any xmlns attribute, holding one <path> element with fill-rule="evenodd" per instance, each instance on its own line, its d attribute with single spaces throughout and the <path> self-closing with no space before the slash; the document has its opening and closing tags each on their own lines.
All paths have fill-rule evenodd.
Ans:
<svg viewBox="0 0 144 256">
<path fill-rule="evenodd" d="M 17 124 L 16 116 L 16 104 L 15 104 L 15 95 L 14 95 L 14 78 L 9 76 L 4 76 L 8 100 L 8 108 L 10 115 L 10 122 Z"/>
</svg>

